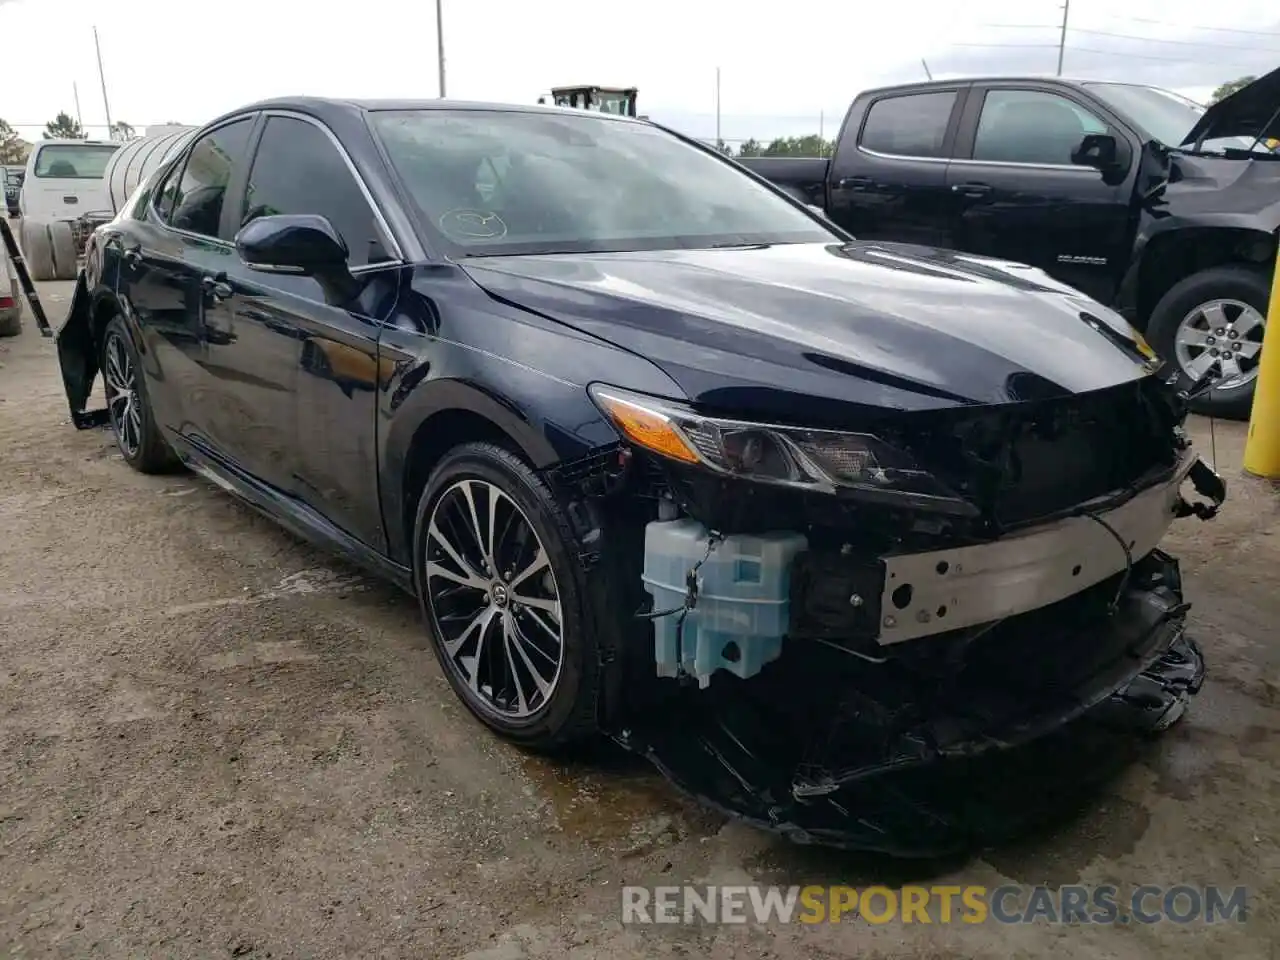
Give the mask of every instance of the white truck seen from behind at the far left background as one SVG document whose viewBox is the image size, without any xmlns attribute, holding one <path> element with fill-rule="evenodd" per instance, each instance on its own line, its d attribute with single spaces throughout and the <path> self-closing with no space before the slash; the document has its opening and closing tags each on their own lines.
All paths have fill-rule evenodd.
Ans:
<svg viewBox="0 0 1280 960">
<path fill-rule="evenodd" d="M 32 146 L 18 197 L 18 242 L 32 279 L 76 279 L 86 238 L 113 216 L 104 174 L 122 146 L 104 140 L 42 140 Z"/>
</svg>

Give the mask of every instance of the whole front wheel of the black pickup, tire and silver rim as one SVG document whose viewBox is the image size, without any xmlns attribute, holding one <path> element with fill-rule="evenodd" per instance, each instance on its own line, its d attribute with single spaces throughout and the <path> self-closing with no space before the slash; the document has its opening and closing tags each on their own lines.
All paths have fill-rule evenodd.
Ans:
<svg viewBox="0 0 1280 960">
<path fill-rule="evenodd" d="M 1192 402 L 1197 413 L 1247 420 L 1258 378 L 1271 271 L 1215 266 L 1192 274 L 1166 293 L 1151 314 L 1148 339 L 1190 387 L 1206 371 L 1217 387 Z"/>
</svg>

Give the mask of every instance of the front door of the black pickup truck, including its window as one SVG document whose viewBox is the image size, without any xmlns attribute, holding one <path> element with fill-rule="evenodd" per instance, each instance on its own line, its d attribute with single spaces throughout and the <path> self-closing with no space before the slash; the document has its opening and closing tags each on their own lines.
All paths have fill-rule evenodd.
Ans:
<svg viewBox="0 0 1280 960">
<path fill-rule="evenodd" d="M 1087 133 L 1110 133 L 1123 169 L 1071 161 Z M 1110 301 L 1129 260 L 1137 151 L 1092 100 L 1061 86 L 975 84 L 947 187 L 956 198 L 954 246 L 1038 266 Z"/>
</svg>

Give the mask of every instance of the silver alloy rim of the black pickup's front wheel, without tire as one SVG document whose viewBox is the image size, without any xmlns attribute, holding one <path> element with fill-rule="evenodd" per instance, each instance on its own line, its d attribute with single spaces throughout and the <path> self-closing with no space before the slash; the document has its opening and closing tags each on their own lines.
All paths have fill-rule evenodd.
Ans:
<svg viewBox="0 0 1280 960">
<path fill-rule="evenodd" d="M 1211 300 L 1183 317 L 1174 334 L 1174 358 L 1190 380 L 1220 365 L 1217 389 L 1231 390 L 1258 375 L 1266 320 L 1239 300 Z"/>
</svg>

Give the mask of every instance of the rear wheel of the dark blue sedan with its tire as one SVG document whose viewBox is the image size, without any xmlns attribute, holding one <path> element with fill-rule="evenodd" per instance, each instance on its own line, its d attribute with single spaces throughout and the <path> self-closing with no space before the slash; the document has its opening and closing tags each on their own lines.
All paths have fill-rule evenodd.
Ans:
<svg viewBox="0 0 1280 960">
<path fill-rule="evenodd" d="M 172 470 L 178 458 L 156 426 L 138 351 L 119 316 L 111 317 L 102 334 L 101 370 L 111 434 L 124 462 L 140 474 Z"/>
</svg>

